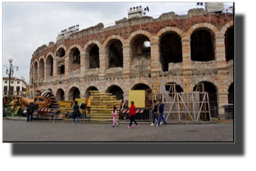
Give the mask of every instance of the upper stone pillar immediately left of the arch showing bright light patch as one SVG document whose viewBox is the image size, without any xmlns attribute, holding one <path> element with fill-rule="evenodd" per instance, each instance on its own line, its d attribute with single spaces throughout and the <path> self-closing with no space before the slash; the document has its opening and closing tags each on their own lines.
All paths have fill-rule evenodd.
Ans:
<svg viewBox="0 0 256 171">
<path fill-rule="evenodd" d="M 130 78 L 131 48 L 129 44 L 123 46 L 123 79 Z"/>
</svg>

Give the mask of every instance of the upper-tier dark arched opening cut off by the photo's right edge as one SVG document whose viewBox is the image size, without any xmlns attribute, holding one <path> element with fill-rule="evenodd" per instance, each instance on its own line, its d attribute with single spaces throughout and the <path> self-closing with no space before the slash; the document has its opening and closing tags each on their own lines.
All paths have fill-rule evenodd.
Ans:
<svg viewBox="0 0 256 171">
<path fill-rule="evenodd" d="M 226 44 L 227 38 L 228 38 L 228 44 Z M 227 55 L 226 61 L 233 60 L 234 62 L 234 27 L 233 26 L 228 28 L 228 36 L 226 36 L 226 32 L 225 32 L 225 52 Z"/>
</svg>

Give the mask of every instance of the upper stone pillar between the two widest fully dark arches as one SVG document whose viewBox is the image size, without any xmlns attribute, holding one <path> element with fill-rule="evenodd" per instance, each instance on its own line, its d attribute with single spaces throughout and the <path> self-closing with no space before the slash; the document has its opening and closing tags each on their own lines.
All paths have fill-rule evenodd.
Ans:
<svg viewBox="0 0 256 171">
<path fill-rule="evenodd" d="M 192 83 L 191 39 L 181 40 L 183 53 L 183 83 Z"/>
</svg>

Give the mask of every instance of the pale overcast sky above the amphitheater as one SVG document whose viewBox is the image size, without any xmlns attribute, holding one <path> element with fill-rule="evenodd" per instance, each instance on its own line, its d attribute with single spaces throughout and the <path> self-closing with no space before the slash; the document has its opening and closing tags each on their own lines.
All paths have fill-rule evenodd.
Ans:
<svg viewBox="0 0 256 171">
<path fill-rule="evenodd" d="M 149 7 L 148 16 L 170 11 L 197 8 L 196 3 L 3 3 L 2 2 L 2 65 L 9 67 L 9 58 L 19 71 L 13 77 L 29 81 L 30 60 L 39 46 L 55 42 L 58 32 L 79 24 L 79 30 L 115 23 L 127 18 L 127 9 Z M 232 5 L 232 3 L 226 3 Z M 3 67 L 2 77 L 8 77 Z"/>
</svg>

